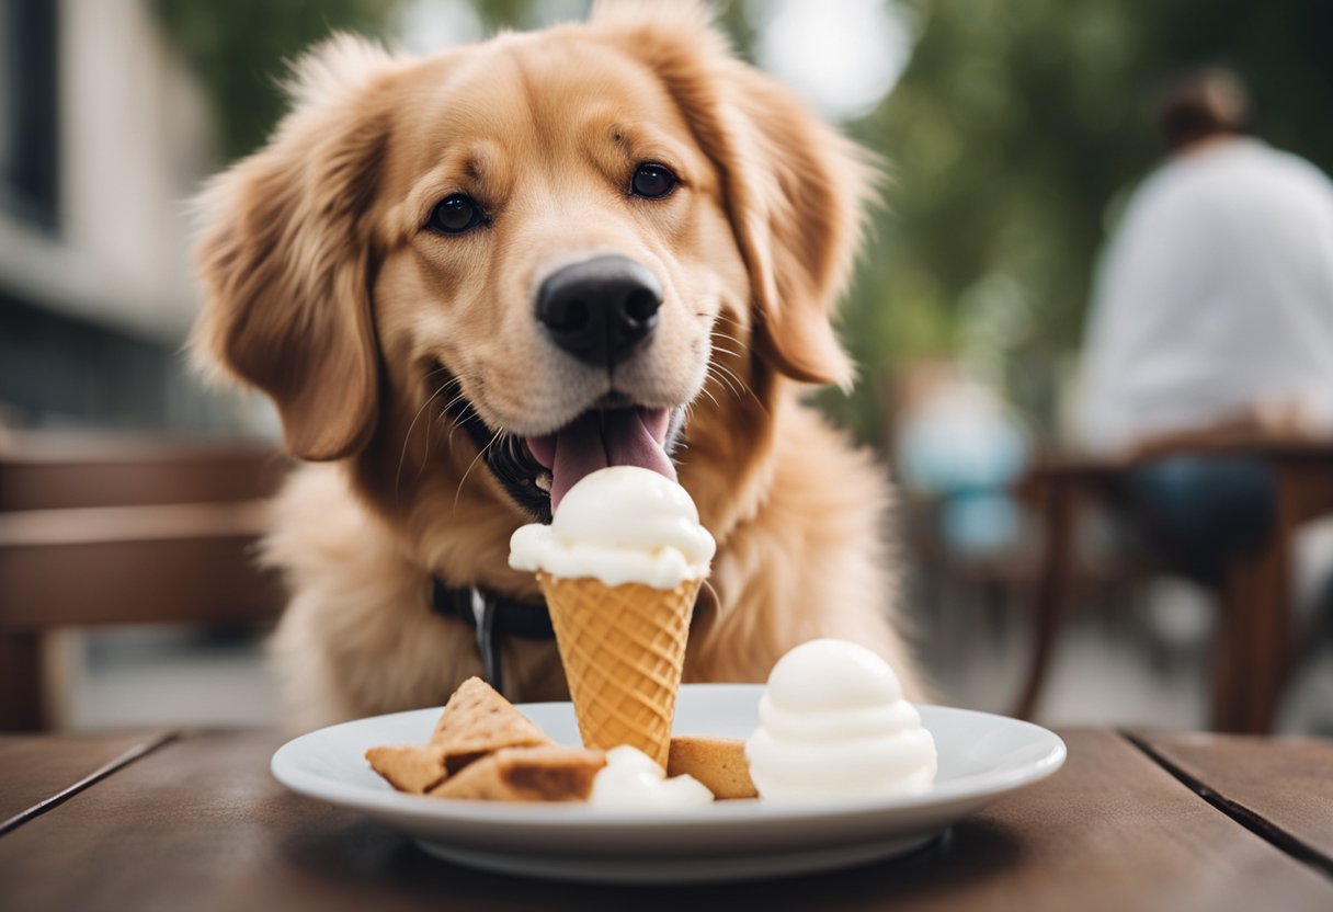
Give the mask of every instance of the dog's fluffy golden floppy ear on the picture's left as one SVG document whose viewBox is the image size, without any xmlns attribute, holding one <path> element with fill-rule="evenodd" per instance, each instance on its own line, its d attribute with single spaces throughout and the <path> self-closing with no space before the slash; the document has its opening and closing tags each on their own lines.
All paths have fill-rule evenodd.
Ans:
<svg viewBox="0 0 1333 912">
<path fill-rule="evenodd" d="M 205 299 L 192 347 L 273 399 L 301 459 L 356 452 L 379 419 L 363 216 L 387 143 L 373 92 L 393 67 L 345 35 L 308 53 L 275 137 L 199 200 Z"/>
</svg>

